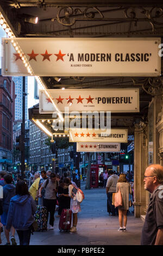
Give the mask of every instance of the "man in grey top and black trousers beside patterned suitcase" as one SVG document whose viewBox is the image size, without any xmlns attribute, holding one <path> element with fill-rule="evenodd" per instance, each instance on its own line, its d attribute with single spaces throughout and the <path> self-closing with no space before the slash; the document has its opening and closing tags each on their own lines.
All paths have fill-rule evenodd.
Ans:
<svg viewBox="0 0 163 256">
<path fill-rule="evenodd" d="M 40 187 L 39 190 L 39 197 L 41 197 L 41 191 L 45 188 L 45 195 L 43 198 L 43 206 L 47 208 L 47 220 L 48 214 L 50 214 L 49 225 L 50 229 L 54 229 L 54 213 L 55 213 L 55 206 L 57 203 L 57 190 L 58 190 L 58 182 L 56 180 L 56 175 L 51 173 L 50 179 L 45 180 Z"/>
</svg>

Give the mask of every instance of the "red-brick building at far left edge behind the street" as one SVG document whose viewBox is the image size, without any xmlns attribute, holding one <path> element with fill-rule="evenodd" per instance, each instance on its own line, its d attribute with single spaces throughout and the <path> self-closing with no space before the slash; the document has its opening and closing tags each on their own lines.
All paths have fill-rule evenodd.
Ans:
<svg viewBox="0 0 163 256">
<path fill-rule="evenodd" d="M 0 171 L 12 170 L 15 83 L 0 70 Z"/>
</svg>

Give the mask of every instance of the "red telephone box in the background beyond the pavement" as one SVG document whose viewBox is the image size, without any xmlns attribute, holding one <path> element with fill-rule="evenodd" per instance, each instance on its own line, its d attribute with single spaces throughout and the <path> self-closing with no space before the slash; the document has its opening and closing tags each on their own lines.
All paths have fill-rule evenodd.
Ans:
<svg viewBox="0 0 163 256">
<path fill-rule="evenodd" d="M 90 187 L 98 187 L 99 175 L 104 172 L 105 164 L 92 164 L 90 172 Z"/>
</svg>

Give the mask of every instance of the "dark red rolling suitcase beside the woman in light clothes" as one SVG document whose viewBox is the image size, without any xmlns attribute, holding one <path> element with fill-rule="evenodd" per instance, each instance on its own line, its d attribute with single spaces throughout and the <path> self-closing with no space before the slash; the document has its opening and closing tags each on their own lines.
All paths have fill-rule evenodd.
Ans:
<svg viewBox="0 0 163 256">
<path fill-rule="evenodd" d="M 59 220 L 60 231 L 70 231 L 71 228 L 72 211 L 70 209 L 63 209 Z"/>
</svg>

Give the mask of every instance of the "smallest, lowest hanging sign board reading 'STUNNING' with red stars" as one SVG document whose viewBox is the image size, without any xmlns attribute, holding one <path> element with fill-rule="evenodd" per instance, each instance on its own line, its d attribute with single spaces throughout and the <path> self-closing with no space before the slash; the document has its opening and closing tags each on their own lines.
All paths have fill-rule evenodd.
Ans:
<svg viewBox="0 0 163 256">
<path fill-rule="evenodd" d="M 120 143 L 77 142 L 77 152 L 120 152 Z"/>
</svg>

